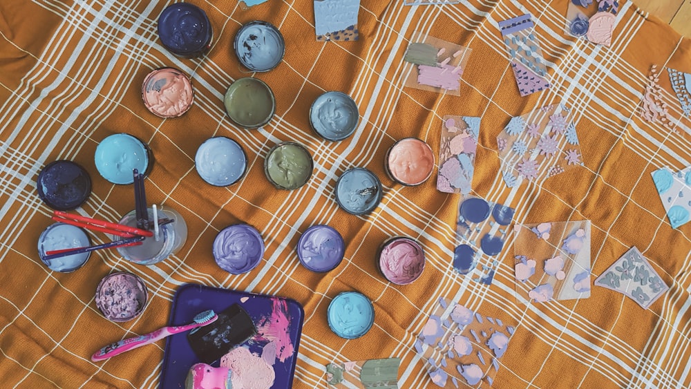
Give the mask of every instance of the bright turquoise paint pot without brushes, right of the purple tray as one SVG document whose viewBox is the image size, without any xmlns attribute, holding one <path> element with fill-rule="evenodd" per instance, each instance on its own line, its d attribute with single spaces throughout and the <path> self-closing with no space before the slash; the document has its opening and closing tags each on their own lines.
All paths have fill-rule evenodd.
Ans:
<svg viewBox="0 0 691 389">
<path fill-rule="evenodd" d="M 344 339 L 356 339 L 366 334 L 375 323 L 375 307 L 364 294 L 341 292 L 329 304 L 326 316 L 334 334 Z"/>
</svg>

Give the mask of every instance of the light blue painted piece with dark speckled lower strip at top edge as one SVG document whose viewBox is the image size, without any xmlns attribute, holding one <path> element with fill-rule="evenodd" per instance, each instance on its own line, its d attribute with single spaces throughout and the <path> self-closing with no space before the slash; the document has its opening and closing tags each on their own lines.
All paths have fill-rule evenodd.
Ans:
<svg viewBox="0 0 691 389">
<path fill-rule="evenodd" d="M 357 41 L 360 0 L 314 0 L 317 41 Z"/>
</svg>

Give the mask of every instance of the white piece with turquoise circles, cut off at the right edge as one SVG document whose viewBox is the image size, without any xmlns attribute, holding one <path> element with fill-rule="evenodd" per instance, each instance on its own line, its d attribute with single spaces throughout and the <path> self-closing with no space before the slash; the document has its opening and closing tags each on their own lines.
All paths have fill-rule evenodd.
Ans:
<svg viewBox="0 0 691 389">
<path fill-rule="evenodd" d="M 668 167 L 652 172 L 655 189 L 660 195 L 672 228 L 691 220 L 691 166 L 672 173 Z"/>
</svg>

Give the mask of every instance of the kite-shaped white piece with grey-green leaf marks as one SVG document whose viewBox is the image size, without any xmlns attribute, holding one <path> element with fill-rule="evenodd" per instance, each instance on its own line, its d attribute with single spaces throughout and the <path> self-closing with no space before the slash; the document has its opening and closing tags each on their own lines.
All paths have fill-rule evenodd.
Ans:
<svg viewBox="0 0 691 389">
<path fill-rule="evenodd" d="M 670 289 L 635 246 L 600 274 L 595 285 L 629 296 L 644 310 Z"/>
</svg>

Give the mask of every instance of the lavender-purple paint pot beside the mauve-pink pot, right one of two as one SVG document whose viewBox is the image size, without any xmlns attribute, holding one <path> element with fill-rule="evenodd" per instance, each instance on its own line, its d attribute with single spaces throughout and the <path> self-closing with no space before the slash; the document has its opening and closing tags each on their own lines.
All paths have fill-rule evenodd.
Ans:
<svg viewBox="0 0 691 389">
<path fill-rule="evenodd" d="M 312 272 L 328 272 L 336 268 L 345 252 L 343 237 L 328 225 L 313 225 L 298 240 L 300 263 Z"/>
</svg>

